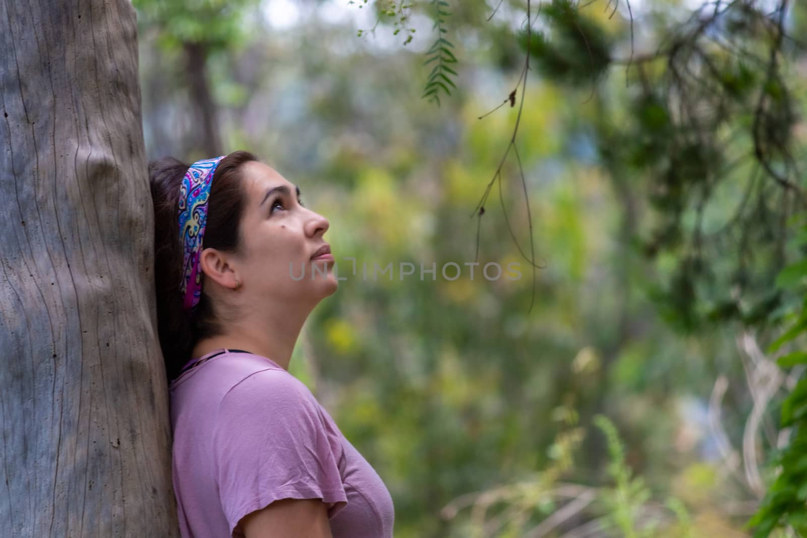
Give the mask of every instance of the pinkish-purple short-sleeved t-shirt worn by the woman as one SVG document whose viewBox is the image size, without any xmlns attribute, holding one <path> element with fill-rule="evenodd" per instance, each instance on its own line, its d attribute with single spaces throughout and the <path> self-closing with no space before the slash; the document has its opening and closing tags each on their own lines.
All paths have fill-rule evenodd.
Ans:
<svg viewBox="0 0 807 538">
<path fill-rule="evenodd" d="M 387 486 L 303 382 L 222 351 L 169 387 L 183 538 L 243 536 L 236 523 L 281 498 L 321 498 L 333 538 L 391 538 Z"/>
</svg>

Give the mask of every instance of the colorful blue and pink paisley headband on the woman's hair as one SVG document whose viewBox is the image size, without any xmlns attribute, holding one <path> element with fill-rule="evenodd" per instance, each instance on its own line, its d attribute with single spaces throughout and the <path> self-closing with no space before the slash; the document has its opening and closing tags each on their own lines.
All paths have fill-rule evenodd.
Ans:
<svg viewBox="0 0 807 538">
<path fill-rule="evenodd" d="M 202 252 L 204 227 L 207 221 L 207 200 L 215 169 L 226 155 L 215 159 L 196 161 L 182 178 L 179 187 L 179 238 L 185 253 L 182 261 L 182 306 L 190 311 L 202 296 L 202 271 L 199 255 Z"/>
</svg>

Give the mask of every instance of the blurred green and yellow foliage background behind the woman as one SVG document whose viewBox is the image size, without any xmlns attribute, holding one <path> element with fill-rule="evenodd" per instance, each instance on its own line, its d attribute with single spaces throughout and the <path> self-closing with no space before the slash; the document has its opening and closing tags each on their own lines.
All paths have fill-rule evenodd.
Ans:
<svg viewBox="0 0 807 538">
<path fill-rule="evenodd" d="M 775 26 L 778 2 L 533 2 L 520 119 L 521 85 L 479 116 L 520 80 L 526 2 L 134 3 L 149 158 L 256 152 L 330 221 L 347 278 L 291 370 L 387 483 L 395 536 L 751 536 L 801 376 L 764 350 L 804 273 L 775 285 L 803 210 L 755 150 L 798 169 L 805 49 L 784 39 L 768 76 L 775 38 L 737 10 L 681 66 L 647 56 L 728 4 Z M 438 18 L 458 59 L 440 106 Z M 525 183 L 511 150 L 479 218 L 516 119 Z"/>
</svg>

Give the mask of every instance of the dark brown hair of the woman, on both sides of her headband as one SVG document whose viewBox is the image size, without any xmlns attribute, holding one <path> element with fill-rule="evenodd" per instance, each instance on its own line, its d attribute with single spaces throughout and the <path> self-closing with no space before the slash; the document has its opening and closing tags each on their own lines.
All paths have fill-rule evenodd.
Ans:
<svg viewBox="0 0 807 538">
<path fill-rule="evenodd" d="M 232 152 L 215 169 L 207 204 L 204 248 L 236 251 L 245 206 L 241 166 L 258 161 L 249 152 Z M 154 277 L 157 281 L 157 332 L 168 379 L 177 377 L 201 338 L 221 333 L 221 325 L 207 294 L 193 311 L 182 308 L 182 243 L 179 237 L 179 187 L 190 165 L 161 157 L 148 164 L 154 202 Z"/>
</svg>

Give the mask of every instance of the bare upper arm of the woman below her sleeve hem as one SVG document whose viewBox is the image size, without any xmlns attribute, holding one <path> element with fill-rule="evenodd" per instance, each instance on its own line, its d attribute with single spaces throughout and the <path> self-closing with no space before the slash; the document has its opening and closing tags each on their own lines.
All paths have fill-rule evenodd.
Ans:
<svg viewBox="0 0 807 538">
<path fill-rule="evenodd" d="M 328 511 L 320 498 L 283 498 L 238 522 L 246 538 L 332 538 Z"/>
</svg>

